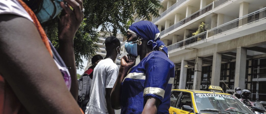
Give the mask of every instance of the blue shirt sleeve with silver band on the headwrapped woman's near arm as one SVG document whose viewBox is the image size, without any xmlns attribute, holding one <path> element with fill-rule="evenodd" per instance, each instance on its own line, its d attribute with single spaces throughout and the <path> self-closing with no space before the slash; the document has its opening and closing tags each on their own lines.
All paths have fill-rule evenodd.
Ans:
<svg viewBox="0 0 266 114">
<path fill-rule="evenodd" d="M 164 93 L 170 79 L 169 70 L 171 63 L 167 60 L 152 56 L 146 61 L 146 79 L 144 82 L 143 96 L 146 99 L 147 96 L 152 96 L 159 99 L 161 102 L 164 98 Z"/>
</svg>

